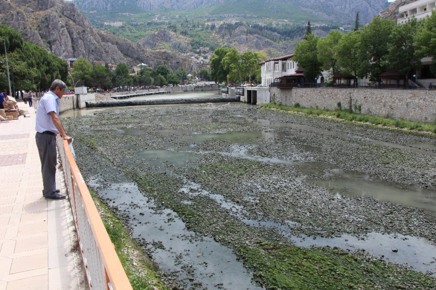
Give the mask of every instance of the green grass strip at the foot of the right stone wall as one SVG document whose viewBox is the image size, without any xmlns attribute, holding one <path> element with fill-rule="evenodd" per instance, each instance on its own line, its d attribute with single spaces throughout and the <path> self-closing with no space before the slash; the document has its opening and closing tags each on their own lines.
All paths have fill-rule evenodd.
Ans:
<svg viewBox="0 0 436 290">
<path fill-rule="evenodd" d="M 298 106 L 296 106 L 298 105 Z M 313 109 L 301 107 L 299 103 L 295 103 L 293 107 L 284 106 L 276 103 L 265 103 L 262 105 L 264 109 L 276 109 L 285 112 L 304 113 L 312 116 L 327 116 L 336 117 L 345 121 L 370 123 L 374 126 L 386 126 L 399 129 L 427 131 L 436 133 L 436 122 L 415 122 L 406 121 L 403 119 L 394 119 L 390 117 L 371 116 L 366 114 L 360 114 L 350 112 L 349 110 L 342 110 L 341 103 L 338 103 L 338 109 L 331 111 L 328 109 Z"/>
</svg>

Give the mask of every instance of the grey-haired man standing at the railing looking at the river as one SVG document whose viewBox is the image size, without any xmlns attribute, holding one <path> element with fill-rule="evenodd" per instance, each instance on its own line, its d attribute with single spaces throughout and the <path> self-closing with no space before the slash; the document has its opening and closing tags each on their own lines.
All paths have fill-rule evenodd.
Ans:
<svg viewBox="0 0 436 290">
<path fill-rule="evenodd" d="M 43 174 L 44 190 L 46 199 L 61 200 L 65 195 L 60 195 L 56 190 L 56 135 L 71 143 L 71 137 L 67 136 L 61 119 L 59 118 L 59 99 L 64 95 L 66 85 L 60 79 L 55 79 L 50 90 L 39 100 L 36 110 L 36 146 L 41 159 L 41 172 Z"/>
</svg>

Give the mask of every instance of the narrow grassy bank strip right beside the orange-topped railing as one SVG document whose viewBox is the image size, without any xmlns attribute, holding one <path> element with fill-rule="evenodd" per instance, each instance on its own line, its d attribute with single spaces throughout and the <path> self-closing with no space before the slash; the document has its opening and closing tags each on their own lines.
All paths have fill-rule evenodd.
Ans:
<svg viewBox="0 0 436 290">
<path fill-rule="evenodd" d="M 133 289 L 168 290 L 169 288 L 161 282 L 156 274 L 159 271 L 157 265 L 148 258 L 141 247 L 136 245 L 120 220 L 112 214 L 96 193 L 92 190 L 89 192 Z"/>
</svg>

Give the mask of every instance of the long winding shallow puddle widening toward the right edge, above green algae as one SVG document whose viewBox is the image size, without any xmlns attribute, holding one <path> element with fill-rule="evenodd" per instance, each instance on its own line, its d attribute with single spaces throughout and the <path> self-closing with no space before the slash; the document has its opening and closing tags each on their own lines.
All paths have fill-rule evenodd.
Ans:
<svg viewBox="0 0 436 290">
<path fill-rule="evenodd" d="M 231 214 L 239 217 L 242 222 L 251 226 L 274 227 L 280 230 L 281 234 L 289 239 L 293 244 L 310 247 L 310 246 L 330 246 L 339 247 L 345 251 L 354 252 L 358 249 L 364 249 L 374 257 L 384 257 L 385 260 L 393 263 L 412 266 L 415 270 L 421 272 L 434 272 L 436 276 L 436 245 L 432 245 L 423 238 L 405 236 L 400 234 L 383 235 L 380 233 L 368 233 L 366 237 L 357 238 L 343 234 L 339 238 L 321 238 L 308 237 L 301 235 L 292 236 L 290 230 L 292 227 L 299 226 L 299 223 L 286 221 L 286 224 L 280 224 L 272 221 L 258 221 L 245 218 L 248 213 L 241 205 L 235 204 L 225 199 L 222 195 L 211 194 L 201 188 L 200 184 L 186 181 L 186 185 L 180 189 L 180 192 L 190 195 L 205 195 L 215 200 L 220 206 L 230 210 Z M 341 198 L 339 194 L 336 194 Z M 350 218 L 354 218 L 350 216 Z M 392 252 L 397 249 L 397 252 Z"/>
</svg>

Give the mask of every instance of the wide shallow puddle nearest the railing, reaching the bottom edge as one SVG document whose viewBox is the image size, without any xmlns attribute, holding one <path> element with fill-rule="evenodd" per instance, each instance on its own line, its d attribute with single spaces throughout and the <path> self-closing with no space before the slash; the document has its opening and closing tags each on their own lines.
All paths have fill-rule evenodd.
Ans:
<svg viewBox="0 0 436 290">
<path fill-rule="evenodd" d="M 89 185 L 99 184 L 94 179 Z M 119 211 L 127 211 L 133 237 L 144 238 L 153 260 L 185 288 L 200 282 L 208 289 L 263 289 L 251 282 L 251 274 L 228 247 L 186 230 L 171 210 L 156 212 L 153 200 L 147 201 L 134 183 L 112 183 L 98 194 L 112 199 Z"/>
</svg>

